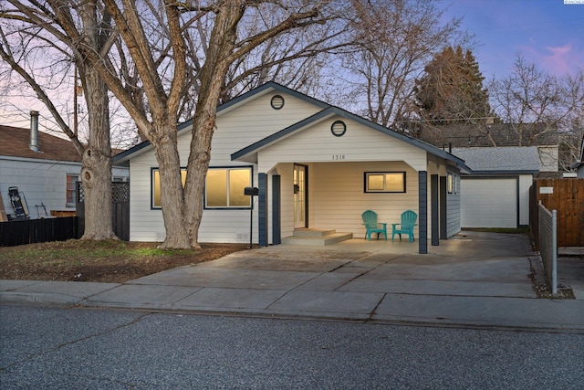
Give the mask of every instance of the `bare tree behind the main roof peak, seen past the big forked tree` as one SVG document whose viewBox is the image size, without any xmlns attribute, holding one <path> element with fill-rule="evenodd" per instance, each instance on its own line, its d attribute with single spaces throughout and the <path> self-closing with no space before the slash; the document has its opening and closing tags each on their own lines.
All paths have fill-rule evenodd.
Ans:
<svg viewBox="0 0 584 390">
<path fill-rule="evenodd" d="M 253 37 L 283 20 L 289 12 L 272 6 L 270 12 L 258 7 L 246 12 L 237 26 L 237 36 Z M 349 16 L 347 16 L 349 17 Z M 197 18 L 185 35 L 187 44 L 187 85 L 180 117 L 193 117 L 200 90 L 199 72 L 202 59 L 209 51 L 209 32 L 213 18 Z M 322 95 L 331 84 L 323 73 L 327 63 L 334 60 L 333 52 L 349 45 L 349 35 L 344 28 L 334 24 L 315 24 L 310 29 L 291 29 L 271 37 L 230 65 L 220 94 L 220 103 L 235 98 L 249 90 L 276 81 L 287 87 L 311 95 Z M 337 90 L 337 89 L 335 89 Z"/>
</svg>

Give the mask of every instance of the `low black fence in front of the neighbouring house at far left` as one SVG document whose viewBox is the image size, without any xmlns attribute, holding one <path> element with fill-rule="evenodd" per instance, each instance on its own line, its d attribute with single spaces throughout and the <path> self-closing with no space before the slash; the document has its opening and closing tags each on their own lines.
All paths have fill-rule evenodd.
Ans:
<svg viewBox="0 0 584 390">
<path fill-rule="evenodd" d="M 78 238 L 77 216 L 0 222 L 0 246 L 35 244 Z"/>
</svg>

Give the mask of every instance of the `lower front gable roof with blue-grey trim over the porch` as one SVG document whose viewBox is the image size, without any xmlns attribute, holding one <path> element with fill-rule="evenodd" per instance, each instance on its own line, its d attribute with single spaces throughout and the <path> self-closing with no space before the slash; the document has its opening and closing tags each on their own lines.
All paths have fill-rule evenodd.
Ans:
<svg viewBox="0 0 584 390">
<path fill-rule="evenodd" d="M 443 159 L 452 161 L 453 163 L 455 163 L 463 168 L 468 168 L 467 166 L 464 165 L 463 159 L 461 159 L 461 158 L 459 158 L 451 153 L 447 153 L 447 152 L 443 151 L 442 149 L 438 149 L 429 143 L 412 138 L 408 135 L 402 134 L 401 132 L 394 132 L 394 131 L 392 131 L 386 127 L 383 127 L 377 123 L 374 123 L 372 121 L 368 121 L 364 118 L 361 118 L 360 116 L 355 115 L 349 111 L 345 111 L 345 110 L 339 109 L 339 107 L 333 107 L 333 106 L 328 106 L 328 108 L 326 108 L 325 110 L 319 111 L 316 114 L 308 117 L 307 119 L 305 119 L 303 121 L 299 121 L 296 124 L 293 124 L 292 126 L 287 127 L 286 129 L 283 129 L 279 132 L 275 132 L 274 134 L 264 138 L 263 140 L 252 143 L 251 145 L 245 147 L 244 149 L 241 149 L 240 151 L 233 153 L 231 155 L 231 159 L 236 160 L 238 158 L 244 157 L 245 155 L 257 153 L 260 150 L 266 148 L 267 146 L 272 145 L 276 142 L 279 142 L 283 139 L 286 139 L 287 137 L 289 137 L 290 135 L 292 135 L 296 132 L 301 132 L 302 130 L 307 129 L 310 125 L 317 123 L 318 121 L 322 121 L 322 120 L 324 120 L 328 117 L 331 117 L 333 115 L 338 115 L 342 118 L 345 118 L 345 119 L 348 119 L 351 121 L 357 121 L 360 124 L 363 124 L 372 130 L 375 130 L 377 132 L 382 132 L 383 134 L 386 134 L 386 135 L 391 136 L 393 138 L 397 138 L 398 140 L 401 140 L 402 142 L 410 143 L 413 146 L 421 148 L 422 150 L 424 150 L 428 153 L 432 153 L 432 154 L 439 156 Z"/>
</svg>

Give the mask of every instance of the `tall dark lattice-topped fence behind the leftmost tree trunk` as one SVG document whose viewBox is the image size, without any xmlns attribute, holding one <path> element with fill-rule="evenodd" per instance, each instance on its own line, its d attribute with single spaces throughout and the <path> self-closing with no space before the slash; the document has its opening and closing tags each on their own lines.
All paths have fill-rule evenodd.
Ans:
<svg viewBox="0 0 584 390">
<path fill-rule="evenodd" d="M 77 186 L 77 216 L 79 234 L 85 231 L 85 196 L 83 186 Z M 111 224 L 118 238 L 130 241 L 130 183 L 113 182 L 111 184 Z"/>
</svg>

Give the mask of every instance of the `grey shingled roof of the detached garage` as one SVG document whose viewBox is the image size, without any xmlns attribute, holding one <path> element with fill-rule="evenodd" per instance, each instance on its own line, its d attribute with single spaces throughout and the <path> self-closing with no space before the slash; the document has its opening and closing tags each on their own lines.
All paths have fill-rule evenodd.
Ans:
<svg viewBox="0 0 584 390">
<path fill-rule="evenodd" d="M 537 146 L 501 146 L 485 148 L 453 148 L 473 174 L 537 174 Z"/>
</svg>

